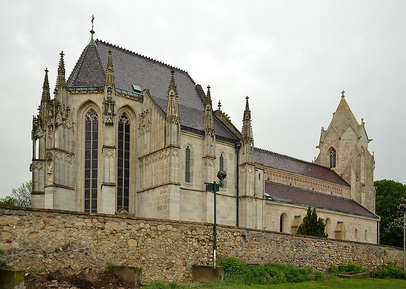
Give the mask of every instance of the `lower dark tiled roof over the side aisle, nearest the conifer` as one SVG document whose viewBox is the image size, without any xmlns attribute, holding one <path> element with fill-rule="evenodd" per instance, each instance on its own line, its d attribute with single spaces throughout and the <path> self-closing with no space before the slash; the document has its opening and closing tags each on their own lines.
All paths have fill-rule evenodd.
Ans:
<svg viewBox="0 0 406 289">
<path fill-rule="evenodd" d="M 312 206 L 317 209 L 326 209 L 329 211 L 378 219 L 377 215 L 350 199 L 268 181 L 265 181 L 265 192 L 276 202 Z"/>
</svg>

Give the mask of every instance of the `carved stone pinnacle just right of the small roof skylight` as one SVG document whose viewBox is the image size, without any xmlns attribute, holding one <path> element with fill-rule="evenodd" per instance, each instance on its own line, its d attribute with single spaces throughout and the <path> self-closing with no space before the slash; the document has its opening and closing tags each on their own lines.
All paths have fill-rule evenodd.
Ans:
<svg viewBox="0 0 406 289">
<path fill-rule="evenodd" d="M 178 91 L 176 90 L 175 71 L 171 71 L 171 83 L 168 87 L 168 104 L 166 107 L 165 145 L 180 146 L 181 122 L 178 107 Z"/>
</svg>

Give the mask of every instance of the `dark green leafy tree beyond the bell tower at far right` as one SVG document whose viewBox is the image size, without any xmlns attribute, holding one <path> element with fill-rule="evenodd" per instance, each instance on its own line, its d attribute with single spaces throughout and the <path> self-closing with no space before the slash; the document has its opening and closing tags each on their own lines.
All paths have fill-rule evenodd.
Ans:
<svg viewBox="0 0 406 289">
<path fill-rule="evenodd" d="M 379 223 L 380 243 L 403 247 L 403 212 L 399 204 L 406 204 L 406 185 L 393 180 L 375 181 L 376 214 Z"/>
</svg>

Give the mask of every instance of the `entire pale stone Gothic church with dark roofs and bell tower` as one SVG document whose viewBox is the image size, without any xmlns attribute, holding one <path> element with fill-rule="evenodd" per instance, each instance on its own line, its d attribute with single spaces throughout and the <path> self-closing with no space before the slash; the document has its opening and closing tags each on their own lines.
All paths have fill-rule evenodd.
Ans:
<svg viewBox="0 0 406 289">
<path fill-rule="evenodd" d="M 67 79 L 60 53 L 53 98 L 45 70 L 32 207 L 213 222 L 205 182 L 224 170 L 219 224 L 295 233 L 311 206 L 328 238 L 377 243 L 371 139 L 344 91 L 307 162 L 254 147 L 248 97 L 240 132 L 213 109 L 210 86 L 93 34 Z"/>
</svg>

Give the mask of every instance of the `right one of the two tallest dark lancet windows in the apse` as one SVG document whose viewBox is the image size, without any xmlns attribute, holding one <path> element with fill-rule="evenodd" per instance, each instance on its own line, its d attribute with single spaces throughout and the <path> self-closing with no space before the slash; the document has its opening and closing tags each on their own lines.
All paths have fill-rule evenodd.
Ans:
<svg viewBox="0 0 406 289">
<path fill-rule="evenodd" d="M 118 120 L 117 211 L 128 212 L 130 184 L 130 122 L 124 112 Z"/>
</svg>

